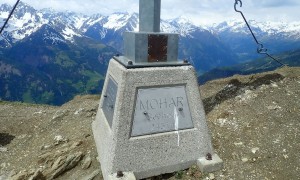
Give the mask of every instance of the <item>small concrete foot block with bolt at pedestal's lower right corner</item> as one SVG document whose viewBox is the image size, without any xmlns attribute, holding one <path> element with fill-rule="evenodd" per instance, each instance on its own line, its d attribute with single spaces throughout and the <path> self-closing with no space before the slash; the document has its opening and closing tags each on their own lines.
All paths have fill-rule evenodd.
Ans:
<svg viewBox="0 0 300 180">
<path fill-rule="evenodd" d="M 207 160 L 206 157 L 198 159 L 197 165 L 201 172 L 209 173 L 221 170 L 223 168 L 223 161 L 217 154 L 214 154 L 212 155 L 212 160 Z"/>
</svg>

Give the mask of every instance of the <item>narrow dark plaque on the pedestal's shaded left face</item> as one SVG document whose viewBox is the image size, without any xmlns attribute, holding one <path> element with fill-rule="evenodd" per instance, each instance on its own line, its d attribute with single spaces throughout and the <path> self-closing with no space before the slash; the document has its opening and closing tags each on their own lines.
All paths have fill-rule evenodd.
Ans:
<svg viewBox="0 0 300 180">
<path fill-rule="evenodd" d="M 103 95 L 104 100 L 102 104 L 102 109 L 110 127 L 112 125 L 114 116 L 117 91 L 117 83 L 111 77 L 109 77 L 106 90 L 104 91 L 105 94 Z"/>
</svg>

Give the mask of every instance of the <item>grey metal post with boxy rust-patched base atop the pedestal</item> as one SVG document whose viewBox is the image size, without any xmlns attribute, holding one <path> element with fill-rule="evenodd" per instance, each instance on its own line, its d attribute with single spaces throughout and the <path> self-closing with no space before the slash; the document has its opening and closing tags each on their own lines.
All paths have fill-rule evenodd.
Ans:
<svg viewBox="0 0 300 180">
<path fill-rule="evenodd" d="M 182 66 L 178 34 L 160 32 L 161 0 L 139 0 L 139 32 L 124 33 L 124 56 L 115 57 L 126 68 Z"/>
</svg>

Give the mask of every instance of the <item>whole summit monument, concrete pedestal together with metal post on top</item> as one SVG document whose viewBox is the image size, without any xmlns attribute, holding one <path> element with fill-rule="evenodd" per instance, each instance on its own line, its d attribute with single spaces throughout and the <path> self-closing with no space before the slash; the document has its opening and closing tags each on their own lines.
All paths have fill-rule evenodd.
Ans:
<svg viewBox="0 0 300 180">
<path fill-rule="evenodd" d="M 142 179 L 198 164 L 214 154 L 194 68 L 178 61 L 178 34 L 160 33 L 160 0 L 140 0 L 140 31 L 124 34 L 125 55 L 110 60 L 93 133 L 104 179 Z"/>
</svg>

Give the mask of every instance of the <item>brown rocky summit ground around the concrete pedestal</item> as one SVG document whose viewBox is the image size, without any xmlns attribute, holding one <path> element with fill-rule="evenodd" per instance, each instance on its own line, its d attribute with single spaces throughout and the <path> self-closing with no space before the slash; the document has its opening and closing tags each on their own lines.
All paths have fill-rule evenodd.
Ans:
<svg viewBox="0 0 300 180">
<path fill-rule="evenodd" d="M 200 87 L 224 169 L 148 179 L 300 179 L 300 68 Z M 91 123 L 99 96 L 61 107 L 0 101 L 0 180 L 102 179 Z"/>
</svg>

